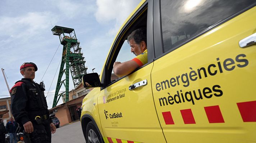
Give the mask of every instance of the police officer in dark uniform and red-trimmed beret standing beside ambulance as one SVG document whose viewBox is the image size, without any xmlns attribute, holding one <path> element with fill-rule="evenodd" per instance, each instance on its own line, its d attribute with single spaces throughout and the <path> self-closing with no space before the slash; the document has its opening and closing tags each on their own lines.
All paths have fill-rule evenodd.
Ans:
<svg viewBox="0 0 256 143">
<path fill-rule="evenodd" d="M 20 66 L 24 78 L 10 90 L 12 114 L 16 122 L 23 125 L 24 131 L 30 134 L 32 143 L 51 143 L 51 133 L 56 132 L 56 127 L 49 117 L 44 83 L 33 81 L 35 71 L 37 66 L 34 63 L 23 63 Z"/>
</svg>

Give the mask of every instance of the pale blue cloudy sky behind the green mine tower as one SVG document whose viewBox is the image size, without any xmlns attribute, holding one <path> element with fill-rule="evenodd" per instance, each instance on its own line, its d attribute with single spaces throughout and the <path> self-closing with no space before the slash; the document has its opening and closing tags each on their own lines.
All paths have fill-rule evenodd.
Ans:
<svg viewBox="0 0 256 143">
<path fill-rule="evenodd" d="M 46 99 L 51 108 L 59 68 L 55 78 L 54 74 L 63 48 L 59 37 L 52 35 L 52 27 L 73 28 L 81 42 L 88 71 L 92 73 L 95 68 L 94 72 L 100 74 L 116 33 L 139 3 L 140 0 L 1 0 L 0 68 L 5 71 L 9 87 L 23 78 L 20 65 L 33 62 L 38 67 L 34 81 L 40 83 L 45 74 L 42 80 L 46 94 L 49 91 Z M 6 98 L 9 93 L 0 73 L 0 98 Z M 70 80 L 69 90 L 72 88 Z"/>
</svg>

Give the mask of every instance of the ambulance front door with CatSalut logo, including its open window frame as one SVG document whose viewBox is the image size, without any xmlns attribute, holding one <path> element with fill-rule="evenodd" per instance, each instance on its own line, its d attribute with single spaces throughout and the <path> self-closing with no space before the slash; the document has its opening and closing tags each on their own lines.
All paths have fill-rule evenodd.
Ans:
<svg viewBox="0 0 256 143">
<path fill-rule="evenodd" d="M 104 66 L 101 82 L 107 85 L 101 89 L 98 105 L 104 140 L 107 143 L 166 142 L 152 95 L 152 58 L 146 65 L 124 77 L 117 78 L 112 72 L 114 61 L 123 63 L 135 58 L 125 39 L 133 30 L 147 27 L 149 9 L 147 4 L 141 6 L 139 12 L 131 18 L 133 20 L 128 21 L 123 27 Z M 152 41 L 150 38 L 147 39 Z M 153 48 L 148 47 L 148 52 L 152 55 Z"/>
</svg>

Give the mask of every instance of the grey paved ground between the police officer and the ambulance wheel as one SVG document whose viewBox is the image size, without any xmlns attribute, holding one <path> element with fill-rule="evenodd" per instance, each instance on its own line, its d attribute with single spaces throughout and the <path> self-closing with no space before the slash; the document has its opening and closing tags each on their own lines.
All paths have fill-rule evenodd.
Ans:
<svg viewBox="0 0 256 143">
<path fill-rule="evenodd" d="M 52 143 L 85 143 L 80 122 L 74 122 L 56 130 L 51 134 Z"/>
</svg>

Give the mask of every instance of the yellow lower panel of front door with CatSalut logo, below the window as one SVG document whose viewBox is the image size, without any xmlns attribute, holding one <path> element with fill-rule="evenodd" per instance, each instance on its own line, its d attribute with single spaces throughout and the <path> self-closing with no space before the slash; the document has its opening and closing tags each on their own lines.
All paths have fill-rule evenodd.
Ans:
<svg viewBox="0 0 256 143">
<path fill-rule="evenodd" d="M 101 90 L 98 103 L 105 140 L 164 143 L 151 89 L 153 63 Z M 129 90 L 136 83 L 141 87 Z M 143 85 L 144 84 L 144 85 Z M 138 84 L 137 84 L 138 85 Z"/>
</svg>

